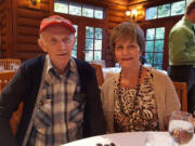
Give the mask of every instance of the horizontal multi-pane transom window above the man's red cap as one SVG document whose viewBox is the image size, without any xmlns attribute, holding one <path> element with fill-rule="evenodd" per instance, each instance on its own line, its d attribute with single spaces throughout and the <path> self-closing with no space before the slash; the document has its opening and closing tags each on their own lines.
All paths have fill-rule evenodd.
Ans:
<svg viewBox="0 0 195 146">
<path fill-rule="evenodd" d="M 103 8 L 80 4 L 79 2 L 72 2 L 70 0 L 54 0 L 54 12 L 99 19 L 104 18 Z"/>
</svg>

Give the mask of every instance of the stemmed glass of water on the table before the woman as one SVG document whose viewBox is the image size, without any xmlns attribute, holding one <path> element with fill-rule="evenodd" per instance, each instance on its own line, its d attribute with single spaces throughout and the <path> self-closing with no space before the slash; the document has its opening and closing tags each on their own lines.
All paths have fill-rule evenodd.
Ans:
<svg viewBox="0 0 195 146">
<path fill-rule="evenodd" d="M 169 121 L 169 134 L 179 146 L 185 146 L 193 138 L 193 116 L 184 111 L 173 111 Z"/>
</svg>

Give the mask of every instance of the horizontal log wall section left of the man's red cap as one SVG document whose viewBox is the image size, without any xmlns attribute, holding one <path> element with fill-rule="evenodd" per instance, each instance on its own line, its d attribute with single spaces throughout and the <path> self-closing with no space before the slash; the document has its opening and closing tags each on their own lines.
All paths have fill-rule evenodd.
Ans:
<svg viewBox="0 0 195 146">
<path fill-rule="evenodd" d="M 50 1 L 41 0 L 40 9 L 29 8 L 26 0 L 17 0 L 14 5 L 14 55 L 24 61 L 42 54 L 37 40 L 41 19 L 50 14 Z"/>
</svg>

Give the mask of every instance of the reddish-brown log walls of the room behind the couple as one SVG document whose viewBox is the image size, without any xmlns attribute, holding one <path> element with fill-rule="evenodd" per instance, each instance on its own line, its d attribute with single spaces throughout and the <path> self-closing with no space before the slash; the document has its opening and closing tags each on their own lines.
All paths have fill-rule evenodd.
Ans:
<svg viewBox="0 0 195 146">
<path fill-rule="evenodd" d="M 0 57 L 15 57 L 25 61 L 42 54 L 43 52 L 37 44 L 39 25 L 43 17 L 53 13 L 54 0 L 41 0 L 40 9 L 30 8 L 28 0 L 0 0 L 0 25 L 1 25 L 1 53 Z M 145 21 L 145 10 L 148 6 L 169 3 L 170 0 L 74 0 L 82 3 L 105 5 L 106 16 L 104 26 L 104 50 L 103 59 L 107 66 L 114 65 L 113 53 L 109 50 L 109 34 L 119 23 L 129 21 L 125 12 L 127 10 L 142 10 L 142 15 L 135 19 L 145 30 L 153 25 L 160 26 L 166 23 L 169 27 L 166 31 L 168 36 L 171 27 L 181 18 L 174 16 L 157 21 Z M 172 0 L 178 1 L 178 0 Z M 172 2 L 171 1 L 171 2 Z M 165 42 L 165 68 L 168 65 L 168 39 Z"/>
</svg>

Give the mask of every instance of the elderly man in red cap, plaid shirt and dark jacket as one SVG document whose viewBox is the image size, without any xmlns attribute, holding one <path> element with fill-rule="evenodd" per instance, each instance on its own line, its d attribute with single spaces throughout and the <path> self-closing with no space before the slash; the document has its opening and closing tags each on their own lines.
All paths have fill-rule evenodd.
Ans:
<svg viewBox="0 0 195 146">
<path fill-rule="evenodd" d="M 75 31 L 58 15 L 42 19 L 38 44 L 47 54 L 26 61 L 0 95 L 1 146 L 58 146 L 105 133 L 95 70 L 70 57 Z M 9 120 L 21 102 L 14 137 Z"/>
</svg>

